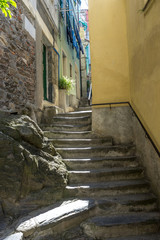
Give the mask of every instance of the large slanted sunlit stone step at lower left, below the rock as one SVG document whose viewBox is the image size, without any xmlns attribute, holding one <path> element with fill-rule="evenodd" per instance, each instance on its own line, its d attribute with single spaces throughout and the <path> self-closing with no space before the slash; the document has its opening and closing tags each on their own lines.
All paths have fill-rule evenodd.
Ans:
<svg viewBox="0 0 160 240">
<path fill-rule="evenodd" d="M 24 219 L 20 219 L 15 229 L 23 233 L 25 239 L 44 239 L 50 234 L 57 234 L 68 228 L 77 226 L 89 217 L 89 211 L 96 206 L 92 199 L 73 199 L 57 203 L 52 208 L 30 213 Z"/>
</svg>

